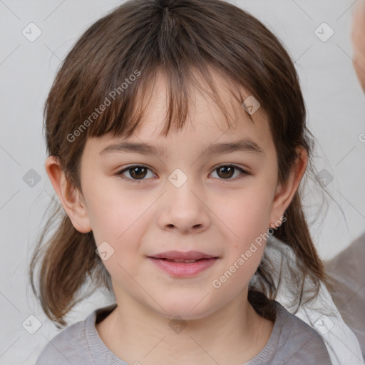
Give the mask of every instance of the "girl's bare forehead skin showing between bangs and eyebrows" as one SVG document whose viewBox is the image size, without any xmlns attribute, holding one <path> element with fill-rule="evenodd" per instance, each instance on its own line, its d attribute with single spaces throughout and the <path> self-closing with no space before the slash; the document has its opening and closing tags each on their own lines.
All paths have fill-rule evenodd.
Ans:
<svg viewBox="0 0 365 365">
<path fill-rule="evenodd" d="M 250 96 L 250 93 L 243 87 L 239 90 L 232 89 L 232 84 L 227 82 L 227 79 L 220 73 L 213 70 L 211 74 L 224 108 L 223 111 L 206 92 L 209 87 L 205 81 L 196 76 L 201 88 L 190 88 L 189 113 L 185 125 L 180 130 L 172 128 L 168 135 L 163 135 L 162 130 L 165 127 L 168 112 L 168 90 L 165 76 L 160 73 L 150 90 L 145 115 L 130 138 L 114 137 L 109 133 L 98 138 L 88 138 L 86 145 L 92 144 L 98 148 L 100 153 L 102 150 L 106 150 L 110 144 L 128 140 L 132 143 L 153 145 L 155 150 L 151 152 L 155 153 L 158 150 L 161 155 L 165 156 L 168 155 L 171 148 L 177 147 L 178 144 L 185 145 L 185 148 L 200 145 L 207 149 L 213 143 L 242 141 L 243 139 L 246 140 L 243 144 L 246 144 L 247 150 L 250 145 L 253 147 L 252 150 L 255 147 L 257 150 L 270 148 L 271 133 L 264 109 L 259 107 L 255 113 L 250 115 L 241 104 L 242 100 L 252 103 L 253 96 Z M 144 150 L 148 150 L 148 148 Z"/>
</svg>

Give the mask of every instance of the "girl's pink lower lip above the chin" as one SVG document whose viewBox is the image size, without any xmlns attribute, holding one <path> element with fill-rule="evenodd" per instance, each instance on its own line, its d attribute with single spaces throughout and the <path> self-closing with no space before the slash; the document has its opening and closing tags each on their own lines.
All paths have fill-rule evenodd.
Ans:
<svg viewBox="0 0 365 365">
<path fill-rule="evenodd" d="M 192 277 L 200 272 L 208 269 L 217 261 L 217 257 L 212 259 L 201 259 L 197 262 L 185 263 L 185 262 L 170 262 L 166 259 L 155 259 L 154 257 L 148 257 L 155 265 L 168 272 L 168 274 L 174 277 Z"/>
</svg>

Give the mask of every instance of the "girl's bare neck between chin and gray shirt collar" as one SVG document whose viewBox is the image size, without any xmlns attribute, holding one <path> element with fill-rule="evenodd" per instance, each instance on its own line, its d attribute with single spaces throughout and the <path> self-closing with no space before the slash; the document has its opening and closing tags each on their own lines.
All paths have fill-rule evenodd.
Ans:
<svg viewBox="0 0 365 365">
<path fill-rule="evenodd" d="M 161 359 L 175 365 L 243 364 L 264 348 L 272 327 L 247 301 L 247 292 L 207 317 L 188 321 L 164 317 L 123 297 L 96 325 L 116 356 L 143 365 L 161 364 Z"/>
</svg>

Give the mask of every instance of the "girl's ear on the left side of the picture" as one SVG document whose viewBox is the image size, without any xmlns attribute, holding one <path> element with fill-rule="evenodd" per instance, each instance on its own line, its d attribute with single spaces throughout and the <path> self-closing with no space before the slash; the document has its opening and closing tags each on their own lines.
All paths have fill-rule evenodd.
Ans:
<svg viewBox="0 0 365 365">
<path fill-rule="evenodd" d="M 86 202 L 81 192 L 66 179 L 61 165 L 59 165 L 58 160 L 54 156 L 48 156 L 44 167 L 63 209 L 70 217 L 73 227 L 81 233 L 90 232 L 91 223 L 88 217 L 88 210 L 86 209 Z"/>
</svg>

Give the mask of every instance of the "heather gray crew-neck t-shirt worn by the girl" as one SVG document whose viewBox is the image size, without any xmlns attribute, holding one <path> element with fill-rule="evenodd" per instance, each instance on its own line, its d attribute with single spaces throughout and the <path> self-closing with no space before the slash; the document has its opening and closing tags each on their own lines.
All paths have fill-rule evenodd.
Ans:
<svg viewBox="0 0 365 365">
<path fill-rule="evenodd" d="M 277 315 L 269 341 L 242 365 L 331 365 L 322 337 L 281 304 L 274 304 Z M 115 307 L 96 309 L 84 321 L 61 331 L 45 346 L 35 365 L 133 365 L 110 351 L 95 327 Z"/>
</svg>

